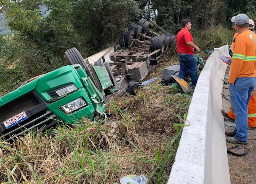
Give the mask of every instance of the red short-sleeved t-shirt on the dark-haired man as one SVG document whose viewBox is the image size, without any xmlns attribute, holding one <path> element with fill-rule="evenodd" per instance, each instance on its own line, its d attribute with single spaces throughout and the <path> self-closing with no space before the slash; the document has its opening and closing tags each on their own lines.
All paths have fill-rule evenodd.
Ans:
<svg viewBox="0 0 256 184">
<path fill-rule="evenodd" d="M 178 54 L 193 54 L 194 48 L 188 46 L 186 42 L 193 42 L 193 38 L 188 30 L 182 28 L 176 36 Z"/>
</svg>

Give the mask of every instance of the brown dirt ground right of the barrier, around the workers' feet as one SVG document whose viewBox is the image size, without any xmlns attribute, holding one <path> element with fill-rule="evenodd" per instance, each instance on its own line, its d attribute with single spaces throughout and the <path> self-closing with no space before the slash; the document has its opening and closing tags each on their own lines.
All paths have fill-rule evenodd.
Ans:
<svg viewBox="0 0 256 184">
<path fill-rule="evenodd" d="M 227 69 L 227 73 L 229 68 Z M 228 89 L 224 85 L 222 90 L 223 109 L 229 111 L 230 101 L 224 96 L 228 95 Z M 233 130 L 233 127 L 225 127 L 226 130 Z M 236 146 L 227 142 L 227 148 Z M 256 184 L 256 130 L 248 130 L 248 144 L 243 145 L 249 152 L 244 156 L 234 156 L 228 153 L 228 165 L 231 184 Z"/>
</svg>

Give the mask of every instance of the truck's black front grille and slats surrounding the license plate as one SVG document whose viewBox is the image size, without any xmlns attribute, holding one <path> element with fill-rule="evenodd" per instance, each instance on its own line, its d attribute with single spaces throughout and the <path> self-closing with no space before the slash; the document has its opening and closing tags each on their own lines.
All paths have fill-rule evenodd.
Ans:
<svg viewBox="0 0 256 184">
<path fill-rule="evenodd" d="M 36 96 L 36 93 L 29 93 L 0 108 L 0 140 L 9 141 L 29 130 L 42 130 L 56 124 L 56 115 L 46 108 L 48 103 Z M 4 121 L 23 111 L 28 118 L 6 129 Z"/>
</svg>

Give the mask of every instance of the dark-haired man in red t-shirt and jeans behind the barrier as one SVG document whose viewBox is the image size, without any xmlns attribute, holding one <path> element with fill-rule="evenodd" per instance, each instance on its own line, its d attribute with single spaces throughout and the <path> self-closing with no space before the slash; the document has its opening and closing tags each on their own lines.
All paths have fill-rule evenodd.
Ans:
<svg viewBox="0 0 256 184">
<path fill-rule="evenodd" d="M 193 86 L 197 83 L 197 65 L 194 49 L 200 52 L 200 48 L 193 43 L 193 38 L 189 32 L 191 29 L 191 20 L 183 19 L 181 21 L 182 30 L 176 36 L 178 58 L 180 61 L 179 77 L 184 79 L 187 70 Z"/>
</svg>

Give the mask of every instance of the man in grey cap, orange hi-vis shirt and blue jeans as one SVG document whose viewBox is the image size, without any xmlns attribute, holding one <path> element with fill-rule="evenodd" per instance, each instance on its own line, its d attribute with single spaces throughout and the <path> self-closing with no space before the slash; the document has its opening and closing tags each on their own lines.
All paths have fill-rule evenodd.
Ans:
<svg viewBox="0 0 256 184">
<path fill-rule="evenodd" d="M 234 20 L 238 36 L 234 39 L 234 53 L 230 68 L 228 90 L 236 128 L 226 140 L 233 144 L 247 144 L 248 103 L 256 85 L 256 34 L 249 30 L 249 18 L 238 14 Z"/>
</svg>

